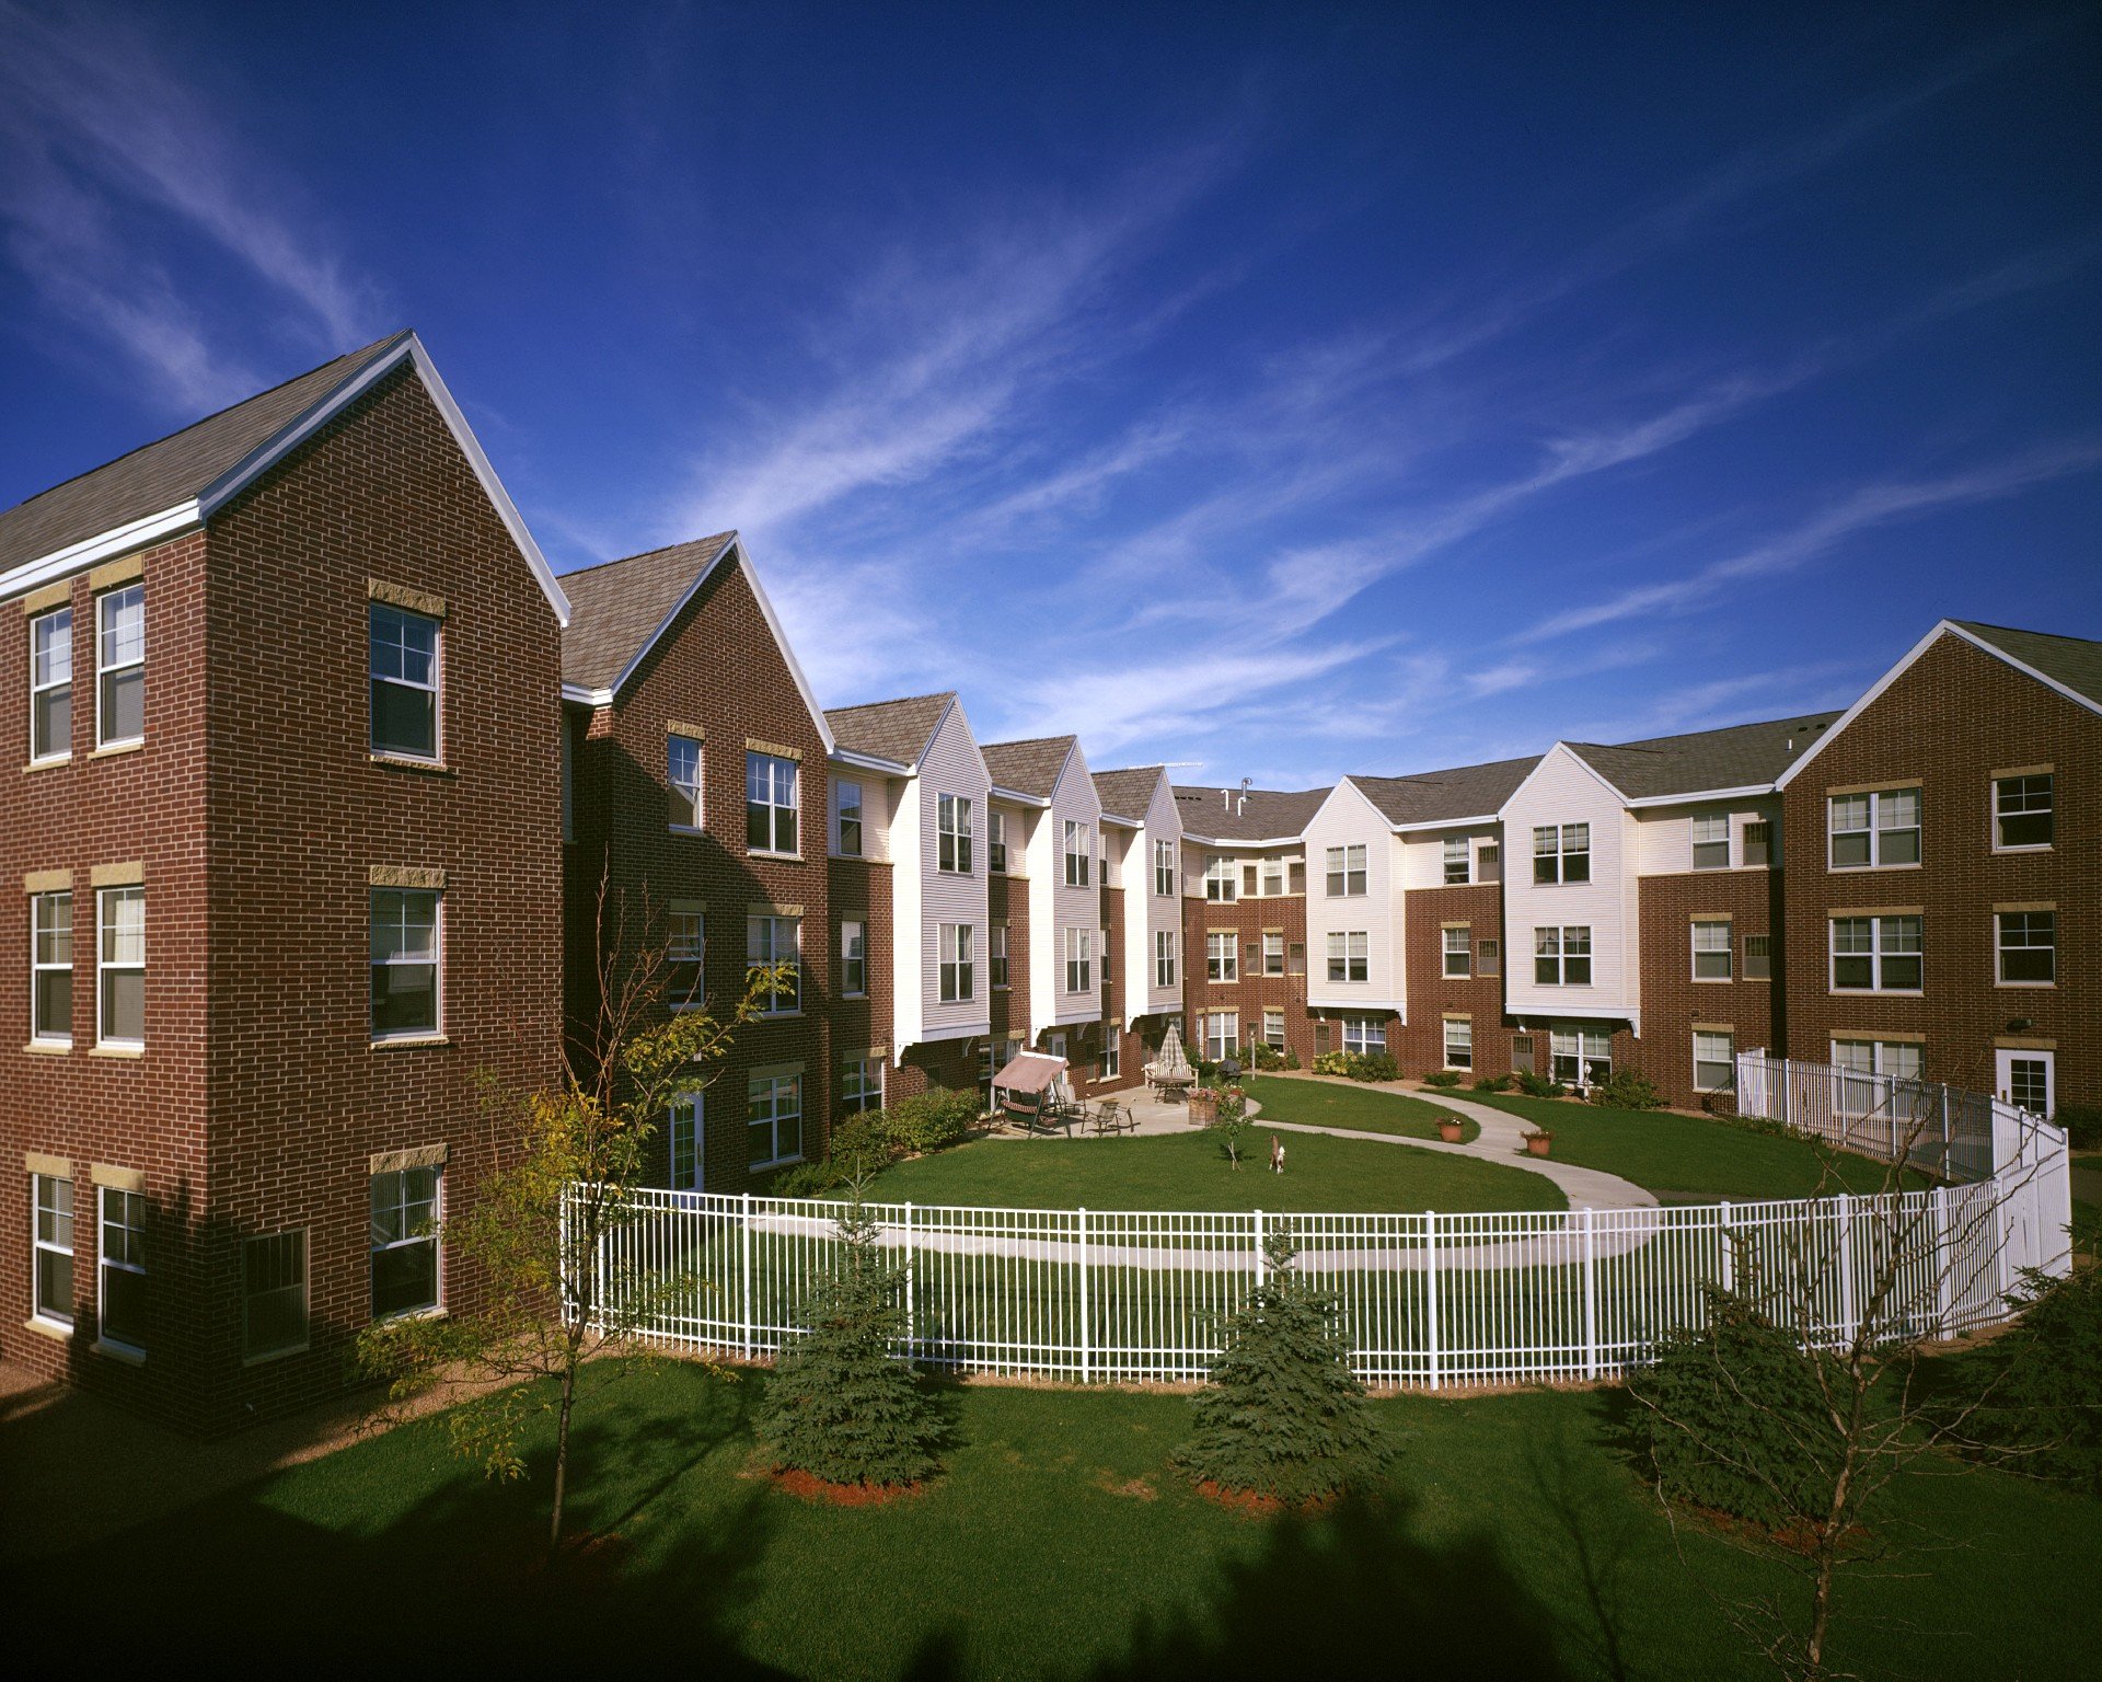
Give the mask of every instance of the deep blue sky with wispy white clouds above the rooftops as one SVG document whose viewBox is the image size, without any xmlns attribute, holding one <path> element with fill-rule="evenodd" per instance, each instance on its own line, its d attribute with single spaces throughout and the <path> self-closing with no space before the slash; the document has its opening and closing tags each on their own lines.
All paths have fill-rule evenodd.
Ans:
<svg viewBox="0 0 2102 1682">
<path fill-rule="evenodd" d="M 612 23 L 614 15 L 622 21 Z M 2102 635 L 2077 8 L 23 6 L 0 502 L 414 326 L 557 568 L 1305 786 Z"/>
</svg>

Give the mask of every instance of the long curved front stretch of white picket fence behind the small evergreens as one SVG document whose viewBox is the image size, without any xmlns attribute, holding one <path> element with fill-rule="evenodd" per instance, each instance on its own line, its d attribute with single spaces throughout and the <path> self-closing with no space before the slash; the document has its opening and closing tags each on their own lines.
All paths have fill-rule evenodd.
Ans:
<svg viewBox="0 0 2102 1682">
<path fill-rule="evenodd" d="M 1333 1293 L 1366 1383 L 1598 1379 L 1698 1325 L 1707 1283 L 1759 1293 L 1818 1343 L 1848 1343 L 1862 1327 L 1955 1335 L 2005 1316 L 2016 1270 L 2054 1266 L 2035 1186 L 2056 1129 L 2018 1131 L 2028 1154 L 2005 1171 L 1854 1198 L 1509 1215 L 910 1203 L 866 1213 L 902 1272 L 900 1354 L 929 1367 L 1078 1383 L 1200 1379 L 1223 1316 L 1263 1278 L 1268 1230 L 1289 1219 L 1293 1268 Z M 837 1264 L 843 1211 L 641 1192 L 580 1257 L 584 1299 L 597 1318 L 673 1348 L 774 1354 Z M 2062 1270 L 2064 1219 L 2056 1245 Z"/>
</svg>

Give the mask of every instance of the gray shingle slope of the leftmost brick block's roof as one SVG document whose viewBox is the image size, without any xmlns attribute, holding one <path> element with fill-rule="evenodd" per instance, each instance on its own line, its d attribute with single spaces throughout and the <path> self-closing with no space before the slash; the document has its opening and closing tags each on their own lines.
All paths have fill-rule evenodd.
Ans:
<svg viewBox="0 0 2102 1682">
<path fill-rule="evenodd" d="M 0 570 L 179 507 L 393 351 L 391 332 L 0 513 Z"/>
</svg>

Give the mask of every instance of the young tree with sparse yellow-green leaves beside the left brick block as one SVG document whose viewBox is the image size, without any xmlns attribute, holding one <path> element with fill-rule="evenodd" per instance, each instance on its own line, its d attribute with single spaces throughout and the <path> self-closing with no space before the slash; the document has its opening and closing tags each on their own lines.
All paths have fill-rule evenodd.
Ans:
<svg viewBox="0 0 2102 1682">
<path fill-rule="evenodd" d="M 601 883 L 597 1013 L 582 1049 L 565 1049 L 561 1085 L 486 1091 L 500 1167 L 444 1222 L 448 1247 L 479 1274 L 477 1299 L 441 1318 L 383 1320 L 357 1339 L 359 1367 L 387 1381 L 383 1417 L 401 1417 L 437 1390 L 454 1394 L 446 1413 L 454 1453 L 492 1478 L 526 1476 L 526 1428 L 553 1413 L 551 1554 L 561 1545 L 584 1362 L 637 1348 L 658 1306 L 708 1289 L 620 1259 L 650 1144 L 671 1100 L 708 1085 L 736 1030 L 784 982 L 778 967 L 759 967 L 729 1011 L 696 1007 L 673 997 L 677 969 L 647 904 L 635 919 L 639 938 L 626 938 L 624 908 L 614 923 L 607 929 Z"/>
</svg>

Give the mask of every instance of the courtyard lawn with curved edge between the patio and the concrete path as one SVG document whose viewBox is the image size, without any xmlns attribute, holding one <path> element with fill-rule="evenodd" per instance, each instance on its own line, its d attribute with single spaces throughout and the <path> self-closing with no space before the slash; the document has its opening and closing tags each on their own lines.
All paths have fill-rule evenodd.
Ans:
<svg viewBox="0 0 2102 1682">
<path fill-rule="evenodd" d="M 881 1203 L 1001 1209 L 1272 1209 L 1406 1213 L 1566 1209 L 1562 1190 L 1524 1169 L 1438 1150 L 1324 1133 L 1282 1133 L 1286 1171 L 1270 1173 L 1270 1135 L 1249 1129 L 1240 1171 L 1204 1131 L 1143 1140 L 982 1140 L 885 1169 Z"/>
</svg>

